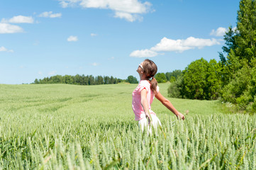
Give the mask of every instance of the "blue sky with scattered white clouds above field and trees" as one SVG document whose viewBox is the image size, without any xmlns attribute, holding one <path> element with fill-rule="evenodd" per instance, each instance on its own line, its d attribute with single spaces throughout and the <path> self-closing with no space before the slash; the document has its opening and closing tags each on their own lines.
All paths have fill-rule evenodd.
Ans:
<svg viewBox="0 0 256 170">
<path fill-rule="evenodd" d="M 56 74 L 138 78 L 219 60 L 238 0 L 0 0 L 0 84 Z"/>
</svg>

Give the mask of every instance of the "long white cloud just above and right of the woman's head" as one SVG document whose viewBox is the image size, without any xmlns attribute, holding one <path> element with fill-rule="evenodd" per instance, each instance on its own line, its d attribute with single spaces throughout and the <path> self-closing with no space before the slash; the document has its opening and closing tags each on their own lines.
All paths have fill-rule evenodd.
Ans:
<svg viewBox="0 0 256 170">
<path fill-rule="evenodd" d="M 162 38 L 154 47 L 149 50 L 135 50 L 130 53 L 130 57 L 155 57 L 159 55 L 157 52 L 184 52 L 195 48 L 203 48 L 205 46 L 219 45 L 221 40 L 203 39 L 189 37 L 186 40 L 172 40 L 169 38 Z"/>
</svg>

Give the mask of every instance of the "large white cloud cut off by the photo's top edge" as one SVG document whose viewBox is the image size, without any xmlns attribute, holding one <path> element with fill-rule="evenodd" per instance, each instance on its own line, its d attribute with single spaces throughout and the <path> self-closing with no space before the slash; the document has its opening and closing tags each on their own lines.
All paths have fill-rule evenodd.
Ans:
<svg viewBox="0 0 256 170">
<path fill-rule="evenodd" d="M 138 0 L 60 0 L 60 5 L 62 8 L 78 5 L 82 8 L 110 9 L 115 12 L 114 17 L 124 18 L 130 22 L 142 21 L 143 17 L 139 15 L 148 13 L 152 6 L 148 1 L 141 3 Z"/>
</svg>

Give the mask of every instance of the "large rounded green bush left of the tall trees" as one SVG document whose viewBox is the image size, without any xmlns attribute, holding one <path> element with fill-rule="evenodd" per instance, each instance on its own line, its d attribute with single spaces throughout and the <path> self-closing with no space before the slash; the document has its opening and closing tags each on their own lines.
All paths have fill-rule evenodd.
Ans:
<svg viewBox="0 0 256 170">
<path fill-rule="evenodd" d="M 207 62 L 203 58 L 191 62 L 183 71 L 182 89 L 186 98 L 217 99 L 221 90 L 221 63 L 216 60 Z"/>
</svg>

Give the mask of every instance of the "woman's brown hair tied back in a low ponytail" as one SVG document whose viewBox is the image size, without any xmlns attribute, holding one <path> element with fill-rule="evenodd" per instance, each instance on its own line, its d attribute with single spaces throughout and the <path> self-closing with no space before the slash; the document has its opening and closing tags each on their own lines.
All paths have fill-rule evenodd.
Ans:
<svg viewBox="0 0 256 170">
<path fill-rule="evenodd" d="M 143 62 L 144 73 L 147 75 L 147 79 L 150 80 L 150 89 L 157 94 L 157 80 L 155 79 L 155 74 L 157 73 L 157 65 L 152 60 L 144 60 Z"/>
</svg>

